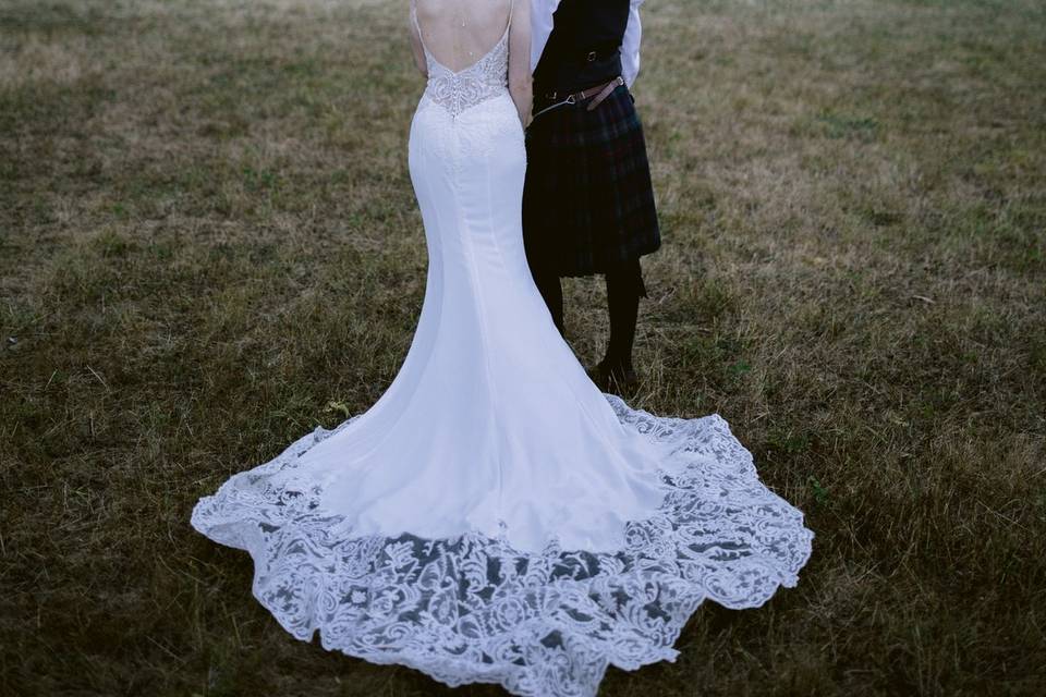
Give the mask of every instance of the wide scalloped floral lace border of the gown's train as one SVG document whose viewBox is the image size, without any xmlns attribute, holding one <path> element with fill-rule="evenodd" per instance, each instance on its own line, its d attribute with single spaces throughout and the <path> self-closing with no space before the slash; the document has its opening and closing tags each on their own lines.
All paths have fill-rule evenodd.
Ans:
<svg viewBox="0 0 1046 697">
<path fill-rule="evenodd" d="M 622 424 L 671 453 L 658 469 L 660 509 L 630 521 L 616 553 L 563 550 L 554 538 L 527 554 L 503 531 L 354 537 L 318 505 L 319 485 L 302 476 L 296 486 L 293 470 L 356 417 L 232 476 L 199 500 L 192 525 L 251 553 L 254 596 L 299 639 L 318 629 L 328 650 L 409 665 L 450 686 L 594 696 L 609 664 L 674 661 L 672 645 L 705 599 L 755 608 L 794 586 L 814 536 L 800 511 L 759 482 L 718 415 L 658 417 L 606 396 Z"/>
</svg>

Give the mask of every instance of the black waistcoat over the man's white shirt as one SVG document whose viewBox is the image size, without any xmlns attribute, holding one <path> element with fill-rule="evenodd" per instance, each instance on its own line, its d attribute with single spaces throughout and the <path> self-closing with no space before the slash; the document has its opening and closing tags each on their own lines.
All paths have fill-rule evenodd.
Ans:
<svg viewBox="0 0 1046 697">
<path fill-rule="evenodd" d="M 629 0 L 561 0 L 534 70 L 534 96 L 577 91 L 620 75 L 629 7 Z"/>
</svg>

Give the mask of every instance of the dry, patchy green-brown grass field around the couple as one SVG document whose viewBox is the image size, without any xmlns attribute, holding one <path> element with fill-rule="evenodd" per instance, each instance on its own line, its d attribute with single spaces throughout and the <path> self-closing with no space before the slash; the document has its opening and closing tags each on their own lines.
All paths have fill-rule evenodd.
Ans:
<svg viewBox="0 0 1046 697">
<path fill-rule="evenodd" d="M 328 653 L 196 499 L 381 394 L 424 292 L 405 2 L 0 0 L 0 693 L 498 695 Z M 1046 9 L 648 0 L 634 405 L 814 555 L 600 697 L 1046 694 Z M 568 284 L 585 363 L 600 279 Z"/>
</svg>

